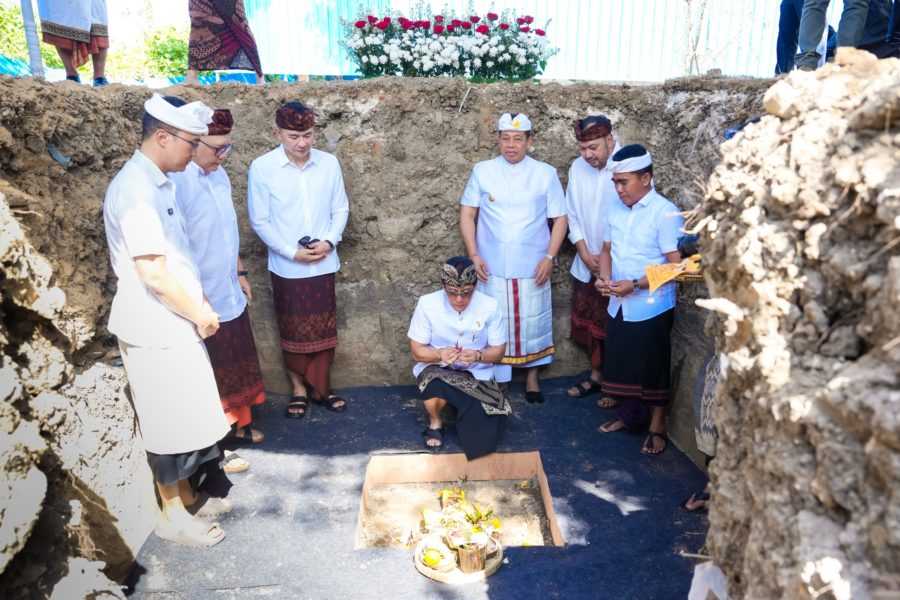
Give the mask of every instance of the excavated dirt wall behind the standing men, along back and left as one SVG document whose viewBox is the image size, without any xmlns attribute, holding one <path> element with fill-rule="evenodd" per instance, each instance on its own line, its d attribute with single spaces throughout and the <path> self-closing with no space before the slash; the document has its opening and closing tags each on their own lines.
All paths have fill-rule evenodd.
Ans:
<svg viewBox="0 0 900 600">
<path fill-rule="evenodd" d="M 500 112 L 531 115 L 534 156 L 556 166 L 564 182 L 576 151 L 572 119 L 606 113 L 623 142 L 653 152 L 660 191 L 691 208 L 719 160 L 723 131 L 761 110 L 766 87 L 729 79 L 640 87 L 388 79 L 171 92 L 235 114 L 237 152 L 227 169 L 254 285 L 251 317 L 267 387 L 281 391 L 265 248 L 247 225 L 245 202 L 247 167 L 274 146 L 279 103 L 300 98 L 317 108 L 318 145 L 341 160 L 351 199 L 334 369 L 334 383 L 347 386 L 411 381 L 408 319 L 416 297 L 438 285 L 438 261 L 462 249 L 458 196 L 472 164 L 493 155 Z M 151 526 L 150 477 L 122 369 L 110 362 L 115 343 L 105 322 L 114 281 L 101 218 L 105 188 L 138 144 L 147 95 L 0 78 L 4 597 L 47 597 L 54 586 L 114 589 L 106 577 L 121 576 Z M 554 275 L 559 353 L 550 374 L 587 368 L 567 339 L 571 256 L 567 244 Z M 703 286 L 682 295 L 672 433 L 690 449 L 691 396 L 712 343 L 705 314 L 690 302 L 705 295 Z"/>
</svg>

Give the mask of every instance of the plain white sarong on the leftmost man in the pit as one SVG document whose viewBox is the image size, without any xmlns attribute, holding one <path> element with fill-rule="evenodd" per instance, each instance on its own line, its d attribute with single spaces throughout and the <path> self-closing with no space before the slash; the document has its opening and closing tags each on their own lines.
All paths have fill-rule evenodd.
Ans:
<svg viewBox="0 0 900 600">
<path fill-rule="evenodd" d="M 119 341 L 144 448 L 182 454 L 212 446 L 228 421 L 202 341 L 170 348 Z"/>
</svg>

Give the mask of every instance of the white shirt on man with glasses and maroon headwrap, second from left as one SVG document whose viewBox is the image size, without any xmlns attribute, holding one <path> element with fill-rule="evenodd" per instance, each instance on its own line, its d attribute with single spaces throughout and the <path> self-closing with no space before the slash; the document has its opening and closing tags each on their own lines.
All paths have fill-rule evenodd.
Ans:
<svg viewBox="0 0 900 600">
<path fill-rule="evenodd" d="M 247 298 L 238 283 L 241 243 L 228 174 L 222 167 L 207 174 L 191 162 L 169 179 L 175 183 L 178 210 L 200 270 L 203 293 L 220 321 L 232 321 L 244 312 Z"/>
</svg>

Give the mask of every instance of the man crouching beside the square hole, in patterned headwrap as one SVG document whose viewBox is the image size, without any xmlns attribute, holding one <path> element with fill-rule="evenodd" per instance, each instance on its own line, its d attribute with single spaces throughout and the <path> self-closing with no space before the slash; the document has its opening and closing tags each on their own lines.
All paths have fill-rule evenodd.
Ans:
<svg viewBox="0 0 900 600">
<path fill-rule="evenodd" d="M 443 445 L 441 411 L 449 404 L 469 460 L 496 450 L 511 413 L 495 376 L 506 349 L 503 314 L 496 300 L 475 289 L 477 279 L 470 259 L 449 259 L 441 268 L 443 289 L 419 298 L 408 333 L 428 412 L 425 447 Z"/>
</svg>

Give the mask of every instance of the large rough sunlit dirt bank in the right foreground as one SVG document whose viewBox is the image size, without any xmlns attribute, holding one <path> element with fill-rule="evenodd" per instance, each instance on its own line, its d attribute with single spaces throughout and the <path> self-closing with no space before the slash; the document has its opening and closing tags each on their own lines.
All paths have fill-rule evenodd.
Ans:
<svg viewBox="0 0 900 600">
<path fill-rule="evenodd" d="M 900 597 L 900 61 L 836 62 L 767 92 L 700 207 L 736 598 Z"/>
</svg>

